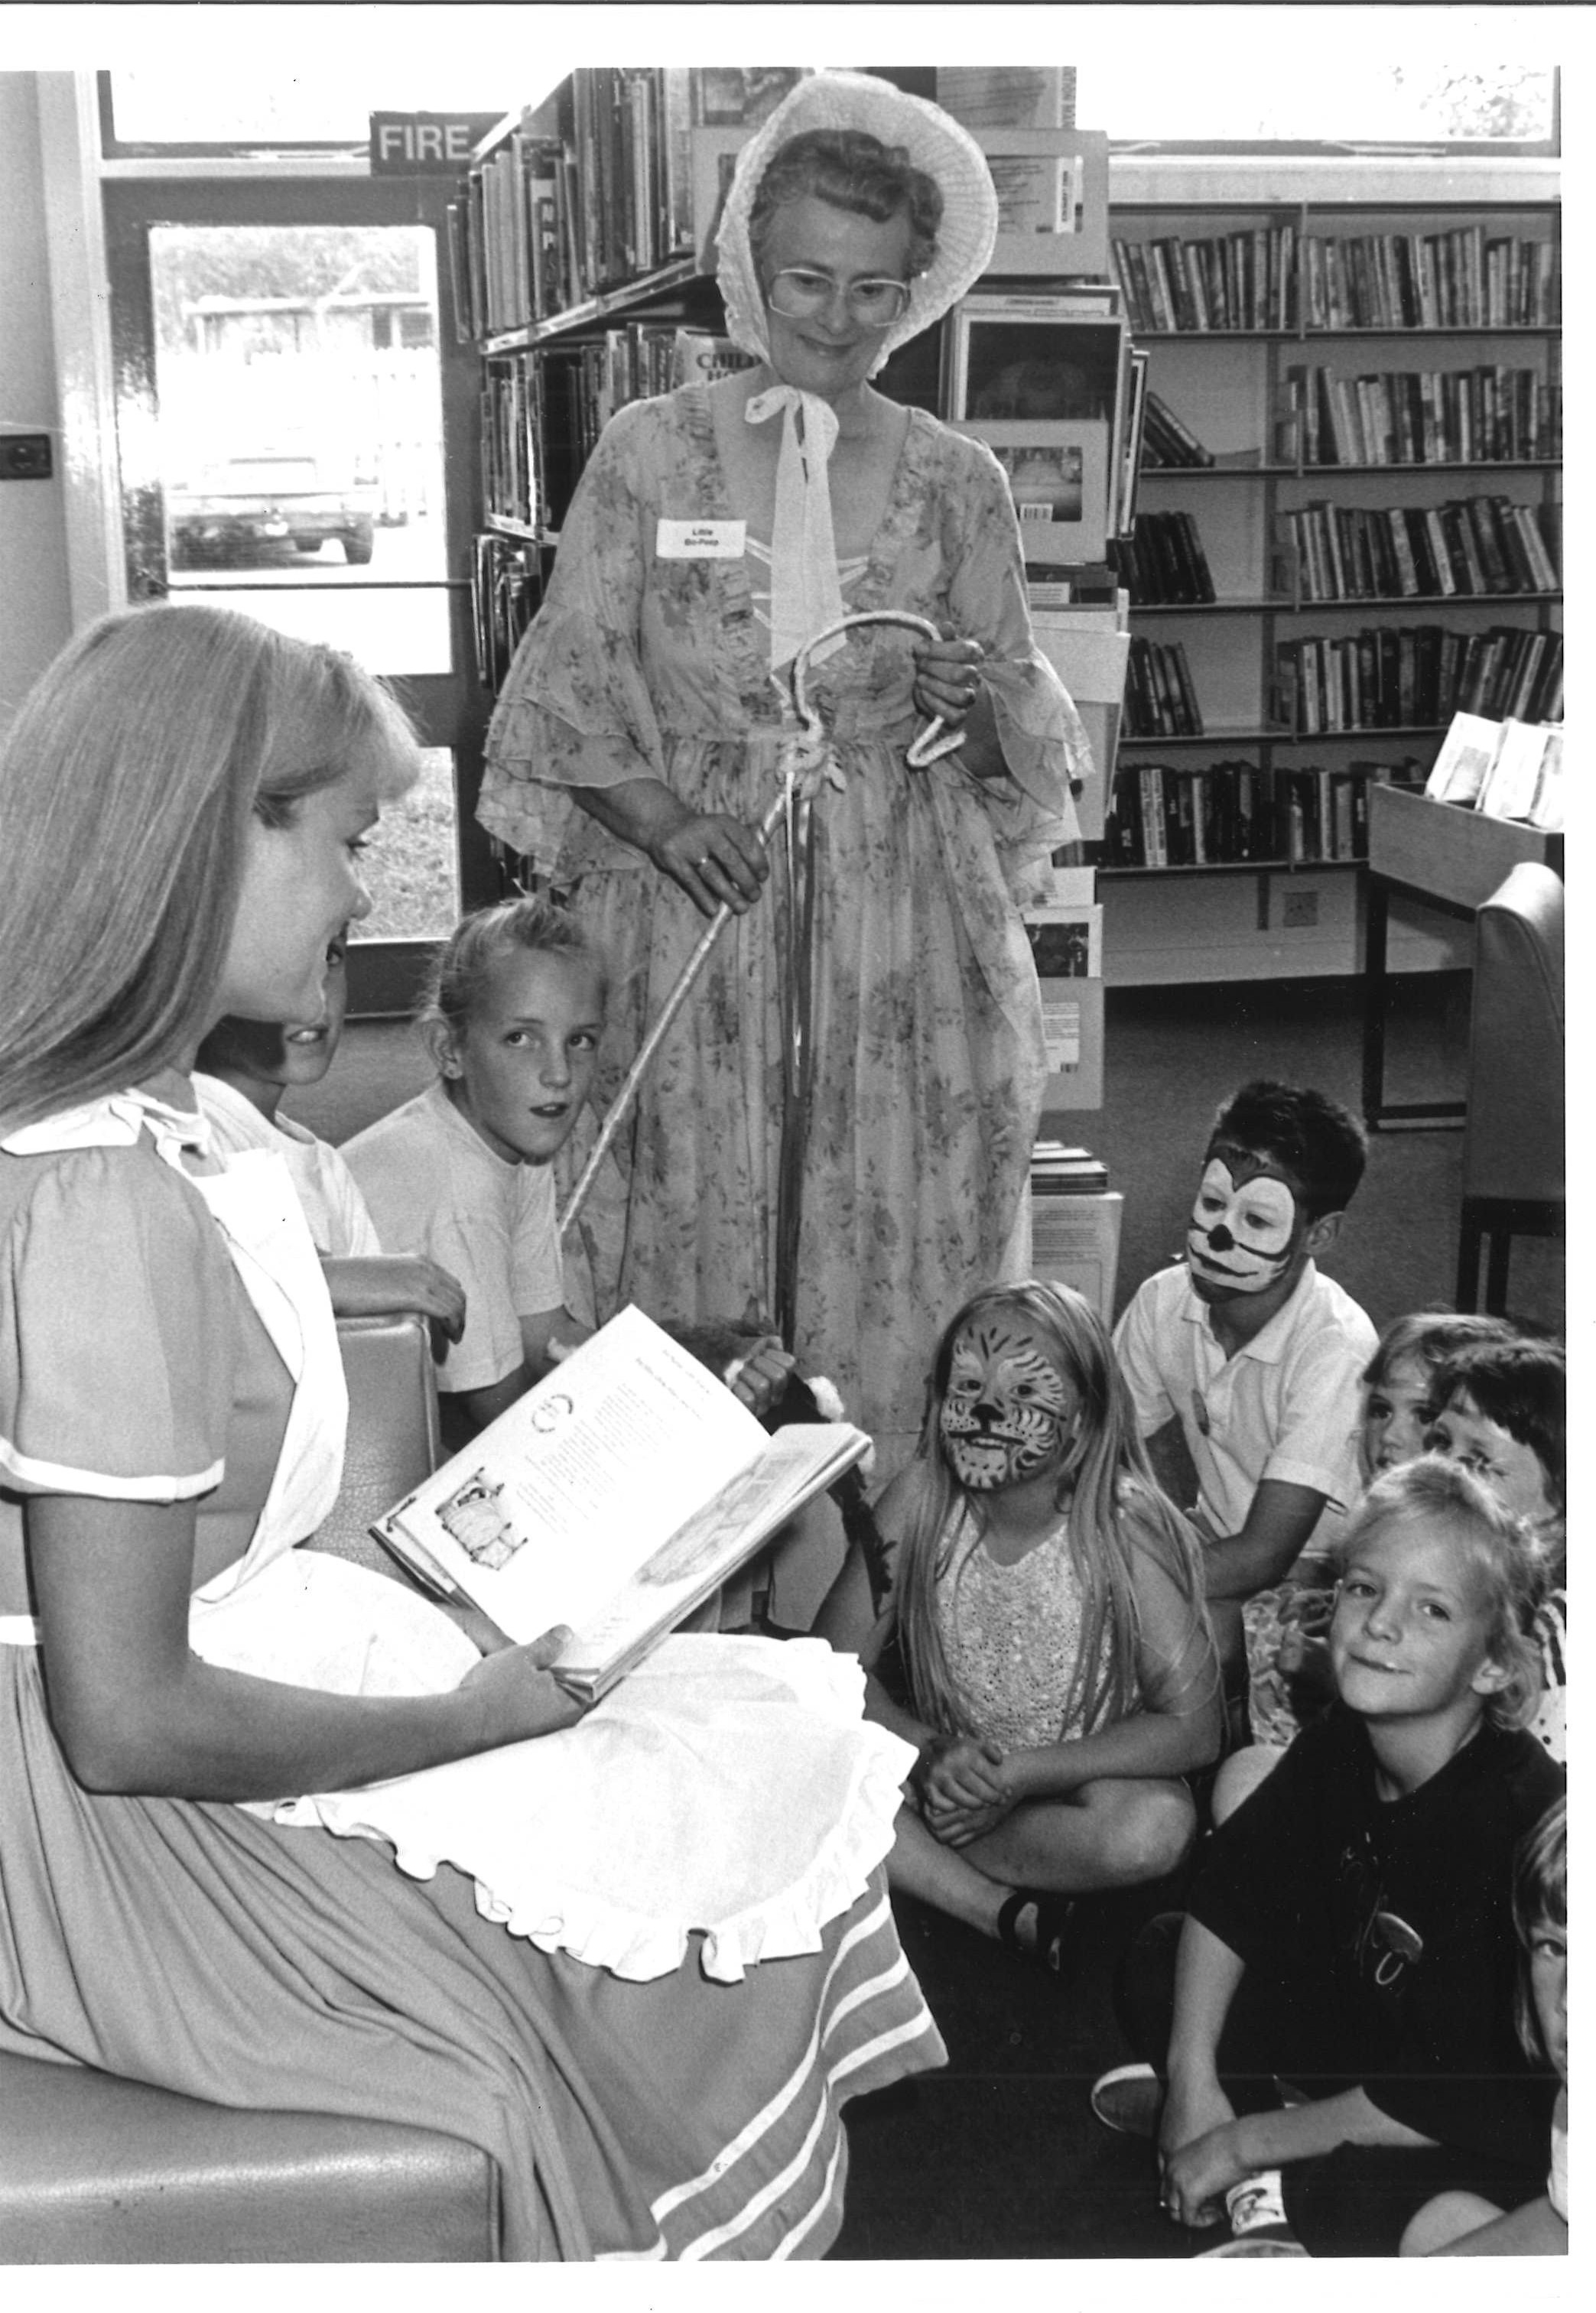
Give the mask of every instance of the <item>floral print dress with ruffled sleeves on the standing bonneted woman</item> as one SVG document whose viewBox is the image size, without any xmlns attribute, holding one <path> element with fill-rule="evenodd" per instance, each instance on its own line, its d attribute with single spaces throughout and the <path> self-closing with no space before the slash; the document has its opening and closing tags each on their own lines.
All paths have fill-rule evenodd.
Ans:
<svg viewBox="0 0 1596 2313">
<path fill-rule="evenodd" d="M 736 382 L 731 382 L 736 386 Z M 571 789 L 662 779 L 694 812 L 756 823 L 796 731 L 770 673 L 747 553 L 659 555 L 659 525 L 736 523 L 710 396 L 634 402 L 571 502 L 539 618 L 488 733 L 479 819 L 571 897 L 613 962 L 597 1099 L 615 1094 L 703 918 Z M 722 532 L 733 537 L 736 532 Z M 812 668 L 844 786 L 810 816 L 810 1101 L 791 1346 L 879 1443 L 914 1443 L 937 1335 L 1004 1272 L 1041 1115 L 1041 999 L 1018 900 L 1076 837 L 1080 719 L 1036 652 L 1008 488 L 981 444 L 923 412 L 881 527 L 844 571 L 849 611 L 904 608 L 974 636 L 1006 777 L 904 761 L 914 636 L 856 629 Z M 733 918 L 641 1085 L 613 1175 L 583 1210 L 594 1311 L 736 1318 L 775 1307 L 789 891 Z M 581 1159 L 581 1145 L 567 1150 Z M 567 1247 L 578 1251 L 578 1247 Z"/>
</svg>

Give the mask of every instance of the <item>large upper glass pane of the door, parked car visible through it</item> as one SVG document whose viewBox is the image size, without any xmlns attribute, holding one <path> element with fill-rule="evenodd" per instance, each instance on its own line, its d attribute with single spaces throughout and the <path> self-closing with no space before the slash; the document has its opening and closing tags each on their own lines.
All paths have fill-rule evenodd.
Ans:
<svg viewBox="0 0 1596 2313">
<path fill-rule="evenodd" d="M 437 252 L 419 224 L 155 224 L 173 594 L 449 671 Z"/>
</svg>

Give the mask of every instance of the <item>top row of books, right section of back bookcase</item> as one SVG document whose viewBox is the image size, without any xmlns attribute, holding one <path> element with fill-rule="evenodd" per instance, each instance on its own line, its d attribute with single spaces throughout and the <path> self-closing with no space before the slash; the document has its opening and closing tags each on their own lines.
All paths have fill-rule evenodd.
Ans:
<svg viewBox="0 0 1596 2313">
<path fill-rule="evenodd" d="M 1302 241 L 1309 328 L 1550 328 L 1557 291 L 1550 241 L 1487 236 L 1483 224 Z"/>
</svg>

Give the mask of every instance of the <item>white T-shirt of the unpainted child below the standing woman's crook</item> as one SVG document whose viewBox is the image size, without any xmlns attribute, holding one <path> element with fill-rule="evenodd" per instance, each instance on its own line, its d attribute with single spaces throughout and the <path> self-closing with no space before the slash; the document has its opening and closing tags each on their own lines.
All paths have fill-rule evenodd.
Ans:
<svg viewBox="0 0 1596 2313">
<path fill-rule="evenodd" d="M 465 1286 L 465 1335 L 437 1369 L 439 1390 L 486 1390 L 513 1374 L 520 1318 L 564 1302 L 553 1166 L 495 1156 L 442 1080 L 345 1140 L 342 1154 L 386 1251 L 430 1254 Z"/>
</svg>

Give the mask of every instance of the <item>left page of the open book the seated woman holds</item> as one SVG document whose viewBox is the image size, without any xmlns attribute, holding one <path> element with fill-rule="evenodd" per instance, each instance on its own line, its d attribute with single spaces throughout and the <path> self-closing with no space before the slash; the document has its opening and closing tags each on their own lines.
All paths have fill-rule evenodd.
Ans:
<svg viewBox="0 0 1596 2313">
<path fill-rule="evenodd" d="M 613 1598 L 763 1446 L 705 1365 L 622 1309 L 379 1529 L 527 1642 Z"/>
</svg>

